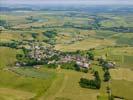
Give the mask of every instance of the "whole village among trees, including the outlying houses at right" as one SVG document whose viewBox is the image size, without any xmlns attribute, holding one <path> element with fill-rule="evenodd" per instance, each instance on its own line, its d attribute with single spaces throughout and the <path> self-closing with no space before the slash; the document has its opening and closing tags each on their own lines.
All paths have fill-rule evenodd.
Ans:
<svg viewBox="0 0 133 100">
<path fill-rule="evenodd" d="M 81 55 L 79 53 L 69 53 L 69 52 L 61 52 L 58 50 L 54 50 L 52 46 L 42 46 L 39 44 L 32 44 L 27 49 L 28 53 L 26 55 L 26 59 L 30 59 L 34 61 L 32 65 L 36 65 L 36 62 L 39 62 L 37 64 L 66 64 L 75 62 L 77 66 L 83 69 L 89 69 L 91 68 L 91 64 L 93 60 L 89 57 L 88 54 Z M 24 58 L 25 59 L 25 58 Z M 103 58 L 101 61 L 101 65 L 106 66 L 108 68 L 114 68 L 116 66 L 115 62 L 108 61 L 105 62 Z M 27 60 L 28 61 L 28 60 Z M 24 66 L 29 62 L 25 62 L 25 60 L 18 60 L 16 62 L 16 66 Z M 41 63 L 40 63 L 41 62 Z"/>
</svg>

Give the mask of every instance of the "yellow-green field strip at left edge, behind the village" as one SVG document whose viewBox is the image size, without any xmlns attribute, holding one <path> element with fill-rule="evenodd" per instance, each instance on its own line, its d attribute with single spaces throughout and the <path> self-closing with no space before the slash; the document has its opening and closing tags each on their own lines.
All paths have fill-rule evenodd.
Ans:
<svg viewBox="0 0 133 100">
<path fill-rule="evenodd" d="M 33 40 L 32 33 L 37 33 L 36 40 L 42 41 L 46 39 L 42 34 L 43 31 L 31 30 L 31 31 L 9 31 L 5 30 L 0 33 L 1 42 L 10 42 L 12 40 Z"/>
</svg>

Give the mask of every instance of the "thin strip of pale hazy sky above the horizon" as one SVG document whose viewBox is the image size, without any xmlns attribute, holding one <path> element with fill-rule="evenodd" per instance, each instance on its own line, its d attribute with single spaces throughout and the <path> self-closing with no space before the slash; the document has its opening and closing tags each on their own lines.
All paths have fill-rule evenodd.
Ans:
<svg viewBox="0 0 133 100">
<path fill-rule="evenodd" d="M 133 0 L 0 0 L 0 4 L 133 5 Z"/>
</svg>

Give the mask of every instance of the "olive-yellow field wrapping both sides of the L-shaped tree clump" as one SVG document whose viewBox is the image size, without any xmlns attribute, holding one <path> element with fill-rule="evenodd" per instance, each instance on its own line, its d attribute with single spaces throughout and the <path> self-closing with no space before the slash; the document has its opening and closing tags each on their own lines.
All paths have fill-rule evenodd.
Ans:
<svg viewBox="0 0 133 100">
<path fill-rule="evenodd" d="M 99 71 L 102 79 L 102 86 L 100 90 L 85 89 L 79 86 L 79 79 L 86 77 L 93 79 L 93 75 L 89 73 L 76 72 L 72 70 L 60 69 L 58 78 L 48 89 L 46 94 L 40 98 L 43 100 L 107 100 L 108 94 L 106 93 L 106 86 L 108 83 L 103 82 L 103 70 L 100 66 L 93 66 L 94 70 Z M 59 84 L 56 86 L 56 84 Z"/>
</svg>

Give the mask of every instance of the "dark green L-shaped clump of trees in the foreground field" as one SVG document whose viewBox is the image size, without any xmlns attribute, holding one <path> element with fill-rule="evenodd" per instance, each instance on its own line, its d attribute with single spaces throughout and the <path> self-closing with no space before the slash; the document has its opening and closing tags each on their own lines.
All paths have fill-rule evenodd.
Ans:
<svg viewBox="0 0 133 100">
<path fill-rule="evenodd" d="M 101 79 L 99 77 L 98 71 L 94 73 L 95 79 L 94 80 L 89 80 L 86 78 L 81 78 L 80 79 L 80 86 L 83 88 L 90 88 L 90 89 L 100 89 L 101 87 Z"/>
</svg>

